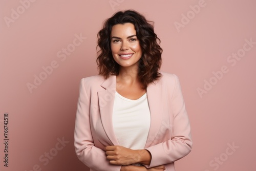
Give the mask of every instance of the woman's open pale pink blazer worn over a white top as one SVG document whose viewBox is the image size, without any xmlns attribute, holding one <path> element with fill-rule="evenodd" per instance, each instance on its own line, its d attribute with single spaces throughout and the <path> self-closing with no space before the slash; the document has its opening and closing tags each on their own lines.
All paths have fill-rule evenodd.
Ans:
<svg viewBox="0 0 256 171">
<path fill-rule="evenodd" d="M 93 170 L 119 171 L 111 165 L 104 147 L 119 145 L 112 126 L 116 76 L 104 79 L 92 76 L 81 79 L 75 123 L 75 151 L 78 158 Z M 174 74 L 148 85 L 151 125 L 145 149 L 151 155 L 146 167 L 165 165 L 174 171 L 174 161 L 186 156 L 192 147 L 190 124 L 183 101 L 179 79 Z"/>
</svg>

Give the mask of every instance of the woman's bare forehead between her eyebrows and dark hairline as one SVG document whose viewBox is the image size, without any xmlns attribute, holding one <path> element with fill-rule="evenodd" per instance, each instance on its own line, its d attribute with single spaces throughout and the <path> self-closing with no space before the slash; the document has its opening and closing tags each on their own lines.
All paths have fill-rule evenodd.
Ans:
<svg viewBox="0 0 256 171">
<path fill-rule="evenodd" d="M 117 24 L 112 27 L 111 36 L 130 36 L 136 34 L 135 27 L 132 23 Z"/>
</svg>

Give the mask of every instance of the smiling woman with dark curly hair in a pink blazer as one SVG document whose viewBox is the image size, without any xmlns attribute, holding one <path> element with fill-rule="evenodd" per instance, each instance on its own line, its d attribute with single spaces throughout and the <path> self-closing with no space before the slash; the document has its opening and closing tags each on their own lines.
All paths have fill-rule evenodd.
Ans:
<svg viewBox="0 0 256 171">
<path fill-rule="evenodd" d="M 178 77 L 160 73 L 154 28 L 117 12 L 98 33 L 99 75 L 80 82 L 75 149 L 91 170 L 175 170 L 191 151 Z"/>
</svg>

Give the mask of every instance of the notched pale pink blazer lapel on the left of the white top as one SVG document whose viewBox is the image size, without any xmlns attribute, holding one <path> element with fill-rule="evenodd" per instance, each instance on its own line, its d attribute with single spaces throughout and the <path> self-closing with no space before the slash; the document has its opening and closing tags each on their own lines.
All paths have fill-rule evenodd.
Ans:
<svg viewBox="0 0 256 171">
<path fill-rule="evenodd" d="M 110 76 L 110 78 L 105 79 L 101 84 L 101 87 L 105 89 L 98 92 L 102 125 L 112 144 L 119 145 L 118 140 L 115 137 L 112 123 L 113 106 L 116 93 L 116 76 Z"/>
</svg>

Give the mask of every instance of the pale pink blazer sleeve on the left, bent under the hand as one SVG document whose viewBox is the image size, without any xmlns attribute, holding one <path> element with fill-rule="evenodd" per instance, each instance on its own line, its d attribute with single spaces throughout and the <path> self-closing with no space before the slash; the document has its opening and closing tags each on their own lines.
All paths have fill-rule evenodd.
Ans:
<svg viewBox="0 0 256 171">
<path fill-rule="evenodd" d="M 120 165 L 111 165 L 106 159 L 105 151 L 96 147 L 93 142 L 90 126 L 90 98 L 88 97 L 85 78 L 80 81 L 79 98 L 75 120 L 74 146 L 76 155 L 84 164 L 93 170 L 119 171 Z M 88 88 L 87 88 L 88 89 Z M 97 94 L 97 93 L 96 93 Z"/>
</svg>

